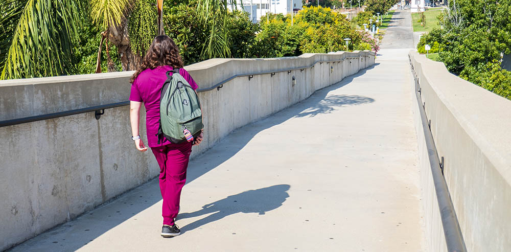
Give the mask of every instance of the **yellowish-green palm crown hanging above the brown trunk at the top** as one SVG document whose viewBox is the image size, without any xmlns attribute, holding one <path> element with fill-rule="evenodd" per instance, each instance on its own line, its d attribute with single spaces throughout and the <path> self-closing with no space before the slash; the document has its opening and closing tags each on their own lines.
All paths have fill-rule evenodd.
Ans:
<svg viewBox="0 0 511 252">
<path fill-rule="evenodd" d="M 120 25 L 126 13 L 132 8 L 133 2 L 133 0 L 89 0 L 92 20 L 102 30 Z"/>
</svg>

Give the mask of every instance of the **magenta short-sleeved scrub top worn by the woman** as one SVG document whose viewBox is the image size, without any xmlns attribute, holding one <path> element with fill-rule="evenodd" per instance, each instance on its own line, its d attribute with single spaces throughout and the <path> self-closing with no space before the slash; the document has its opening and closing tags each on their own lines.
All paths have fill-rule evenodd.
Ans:
<svg viewBox="0 0 511 252">
<path fill-rule="evenodd" d="M 133 84 L 131 85 L 130 101 L 144 102 L 146 107 L 146 130 L 147 130 L 147 144 L 149 147 L 158 147 L 171 144 L 170 141 L 165 139 L 162 143 L 158 144 L 159 127 L 159 104 L 161 87 L 167 80 L 167 72 L 172 70 L 172 66 L 162 65 L 154 69 L 146 69 L 140 73 Z M 184 70 L 179 68 L 179 74 L 190 83 L 192 88 L 197 89 L 197 83 L 192 79 L 192 76 Z"/>
</svg>

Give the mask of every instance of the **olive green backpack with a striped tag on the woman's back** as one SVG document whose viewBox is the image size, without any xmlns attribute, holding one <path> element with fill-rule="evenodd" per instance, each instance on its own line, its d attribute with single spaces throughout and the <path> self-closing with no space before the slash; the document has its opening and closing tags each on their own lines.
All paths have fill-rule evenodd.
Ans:
<svg viewBox="0 0 511 252">
<path fill-rule="evenodd" d="M 204 127 L 199 97 L 179 68 L 167 72 L 167 77 L 161 87 L 158 144 L 164 137 L 174 144 L 193 142 Z"/>
</svg>

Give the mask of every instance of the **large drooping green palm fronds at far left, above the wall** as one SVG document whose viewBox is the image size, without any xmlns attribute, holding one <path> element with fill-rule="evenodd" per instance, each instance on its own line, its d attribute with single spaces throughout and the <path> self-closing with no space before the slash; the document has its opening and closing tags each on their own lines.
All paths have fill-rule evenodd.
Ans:
<svg viewBox="0 0 511 252">
<path fill-rule="evenodd" d="M 13 2 L 8 0 L 9 2 Z M 79 1 L 26 0 L 12 14 L 14 30 L 0 79 L 66 75 L 73 72 L 72 36 L 79 22 Z M 20 12 L 20 13 L 19 13 Z M 2 24 L 7 24 L 2 17 Z"/>
</svg>

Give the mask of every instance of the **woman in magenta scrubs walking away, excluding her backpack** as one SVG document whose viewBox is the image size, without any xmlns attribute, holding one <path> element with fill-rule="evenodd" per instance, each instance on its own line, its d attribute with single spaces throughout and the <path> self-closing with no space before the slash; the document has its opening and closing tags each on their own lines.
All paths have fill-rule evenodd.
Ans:
<svg viewBox="0 0 511 252">
<path fill-rule="evenodd" d="M 203 139 L 203 133 L 195 139 L 195 142 L 183 141 L 173 144 L 163 138 L 158 141 L 158 127 L 160 119 L 160 92 L 161 87 L 167 80 L 167 72 L 179 68 L 179 74 L 195 90 L 197 83 L 190 74 L 184 70 L 179 49 L 174 41 L 166 35 L 157 36 L 146 55 L 140 68 L 131 76 L 130 121 L 132 140 L 139 151 L 146 151 L 147 147 L 138 134 L 140 108 L 142 103 L 146 108 L 147 142 L 160 167 L 159 186 L 163 197 L 161 215 L 163 227 L 161 236 L 173 237 L 180 234 L 179 227 L 174 219 L 179 211 L 181 190 L 186 182 L 187 168 L 192 145 L 199 145 Z"/>
</svg>

